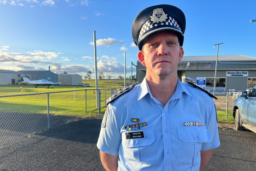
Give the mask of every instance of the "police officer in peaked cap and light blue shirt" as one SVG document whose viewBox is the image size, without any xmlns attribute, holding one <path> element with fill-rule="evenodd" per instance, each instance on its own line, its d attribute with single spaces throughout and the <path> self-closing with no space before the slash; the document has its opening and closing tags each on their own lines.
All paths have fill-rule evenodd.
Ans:
<svg viewBox="0 0 256 171">
<path fill-rule="evenodd" d="M 172 5 L 135 18 L 132 37 L 146 76 L 107 101 L 97 142 L 106 170 L 203 170 L 220 145 L 214 101 L 178 79 L 185 26 Z"/>
</svg>

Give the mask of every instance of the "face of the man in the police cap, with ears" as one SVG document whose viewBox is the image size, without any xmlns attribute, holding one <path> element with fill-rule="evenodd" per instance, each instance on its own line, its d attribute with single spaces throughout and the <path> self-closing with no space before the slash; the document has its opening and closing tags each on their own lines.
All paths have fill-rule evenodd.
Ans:
<svg viewBox="0 0 256 171">
<path fill-rule="evenodd" d="M 142 65 L 146 66 L 147 74 L 154 76 L 177 75 L 177 66 L 184 55 L 183 47 L 178 43 L 176 34 L 162 31 L 150 35 L 138 53 Z"/>
</svg>

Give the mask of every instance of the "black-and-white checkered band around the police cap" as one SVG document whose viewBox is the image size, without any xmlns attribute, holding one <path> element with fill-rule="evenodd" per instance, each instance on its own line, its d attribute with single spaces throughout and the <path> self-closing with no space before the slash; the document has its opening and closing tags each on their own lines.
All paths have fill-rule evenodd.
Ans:
<svg viewBox="0 0 256 171">
<path fill-rule="evenodd" d="M 174 18 L 172 18 L 172 17 L 169 17 L 169 20 L 167 22 L 156 23 L 156 24 L 152 24 L 148 20 L 148 21 L 146 21 L 143 24 L 143 26 L 142 26 L 142 28 L 140 30 L 140 34 L 139 34 L 139 38 L 138 38 L 138 43 L 140 42 L 141 39 L 143 39 L 146 36 L 146 35 L 144 35 L 144 33 L 146 33 L 148 30 L 150 30 L 150 29 L 152 29 L 154 27 L 157 27 L 157 26 L 167 26 L 167 27 L 168 26 L 175 26 L 177 29 L 174 29 L 174 28 L 172 28 L 172 29 L 175 30 L 175 31 L 180 32 L 181 34 L 183 34 L 182 31 L 181 31 L 180 26 L 177 23 L 177 21 Z"/>
</svg>

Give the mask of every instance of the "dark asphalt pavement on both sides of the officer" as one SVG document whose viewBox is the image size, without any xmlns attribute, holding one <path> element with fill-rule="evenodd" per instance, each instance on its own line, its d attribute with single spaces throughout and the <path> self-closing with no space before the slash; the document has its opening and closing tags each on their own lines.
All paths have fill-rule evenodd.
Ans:
<svg viewBox="0 0 256 171">
<path fill-rule="evenodd" d="M 80 118 L 0 147 L 1 171 L 103 171 L 96 147 L 101 119 Z M 256 170 L 256 134 L 219 128 L 221 145 L 205 171 Z"/>
</svg>

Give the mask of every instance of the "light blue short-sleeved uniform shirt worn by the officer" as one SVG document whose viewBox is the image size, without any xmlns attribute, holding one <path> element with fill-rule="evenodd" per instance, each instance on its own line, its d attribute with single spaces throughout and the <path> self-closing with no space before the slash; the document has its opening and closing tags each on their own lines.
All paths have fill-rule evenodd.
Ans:
<svg viewBox="0 0 256 171">
<path fill-rule="evenodd" d="M 97 147 L 105 153 L 119 155 L 120 171 L 198 171 L 200 151 L 220 145 L 214 101 L 205 92 L 179 80 L 165 107 L 152 96 L 144 79 L 108 108 Z M 138 118 L 139 123 L 146 122 L 147 126 L 127 131 L 124 126 L 136 124 L 132 118 Z M 203 125 L 184 126 L 189 122 Z M 144 138 L 127 139 L 127 132 L 135 136 L 144 134 Z"/>
</svg>

